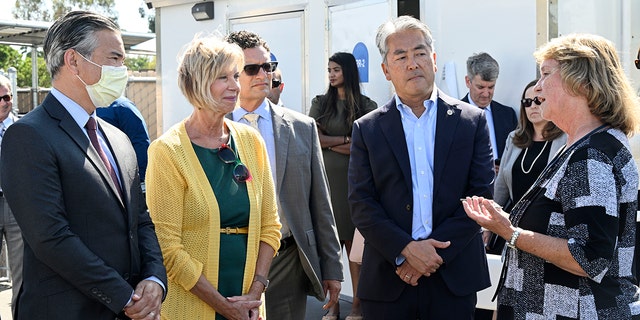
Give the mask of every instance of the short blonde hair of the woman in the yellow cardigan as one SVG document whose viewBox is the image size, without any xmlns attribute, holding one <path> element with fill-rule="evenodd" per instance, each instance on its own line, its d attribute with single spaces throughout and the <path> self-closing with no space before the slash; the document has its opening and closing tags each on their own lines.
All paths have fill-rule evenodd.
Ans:
<svg viewBox="0 0 640 320">
<path fill-rule="evenodd" d="M 178 86 L 196 108 L 214 109 L 219 102 L 211 94 L 211 85 L 234 66 L 238 71 L 244 66 L 244 53 L 238 45 L 213 35 L 196 35 L 179 59 Z"/>
</svg>

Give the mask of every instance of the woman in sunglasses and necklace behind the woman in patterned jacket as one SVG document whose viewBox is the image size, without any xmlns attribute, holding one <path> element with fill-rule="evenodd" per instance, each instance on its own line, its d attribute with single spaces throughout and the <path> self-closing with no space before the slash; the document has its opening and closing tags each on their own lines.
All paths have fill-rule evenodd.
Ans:
<svg viewBox="0 0 640 320">
<path fill-rule="evenodd" d="M 507 212 L 522 198 L 567 141 L 562 130 L 540 115 L 540 103 L 533 91 L 537 82 L 529 82 L 522 92 L 518 127 L 507 137 L 500 161 L 502 168 L 494 184 L 494 201 Z M 492 236 L 489 231 L 485 231 L 483 238 L 487 252 L 502 252 L 504 239 Z"/>
</svg>

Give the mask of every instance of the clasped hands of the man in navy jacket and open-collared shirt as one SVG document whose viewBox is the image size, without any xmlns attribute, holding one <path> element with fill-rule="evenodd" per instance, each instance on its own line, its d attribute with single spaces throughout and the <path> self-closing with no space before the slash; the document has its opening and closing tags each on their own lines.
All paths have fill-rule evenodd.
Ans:
<svg viewBox="0 0 640 320">
<path fill-rule="evenodd" d="M 417 286 L 422 276 L 431 276 L 444 263 L 436 248 L 444 249 L 449 245 L 450 241 L 442 242 L 435 239 L 409 242 L 402 250 L 402 256 L 406 260 L 396 268 L 396 274 L 407 284 Z"/>
</svg>

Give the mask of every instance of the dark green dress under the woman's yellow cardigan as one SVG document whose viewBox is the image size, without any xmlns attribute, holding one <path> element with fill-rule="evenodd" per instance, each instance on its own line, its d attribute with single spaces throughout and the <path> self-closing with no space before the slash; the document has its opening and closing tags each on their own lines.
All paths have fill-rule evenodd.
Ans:
<svg viewBox="0 0 640 320">
<path fill-rule="evenodd" d="M 200 165 L 213 188 L 220 209 L 220 228 L 249 225 L 249 195 L 247 185 L 233 180 L 235 164 L 218 158 L 219 149 L 207 149 L 193 144 Z M 231 139 L 231 149 L 236 152 Z M 236 154 L 238 154 L 236 152 Z M 246 234 L 220 234 L 218 292 L 224 297 L 242 295 L 242 281 L 247 258 Z M 226 319 L 216 313 L 216 320 Z"/>
</svg>

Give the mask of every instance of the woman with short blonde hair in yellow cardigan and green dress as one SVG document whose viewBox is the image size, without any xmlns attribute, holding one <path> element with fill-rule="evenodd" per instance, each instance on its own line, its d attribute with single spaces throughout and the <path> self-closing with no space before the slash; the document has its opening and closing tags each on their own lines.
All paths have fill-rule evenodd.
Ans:
<svg viewBox="0 0 640 320">
<path fill-rule="evenodd" d="M 162 319 L 258 319 L 280 223 L 259 133 L 225 118 L 242 50 L 196 37 L 178 68 L 193 113 L 149 147 L 147 204 L 169 277 Z"/>
</svg>

